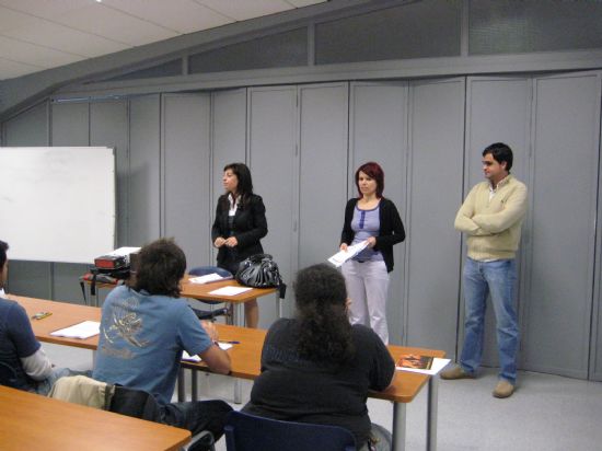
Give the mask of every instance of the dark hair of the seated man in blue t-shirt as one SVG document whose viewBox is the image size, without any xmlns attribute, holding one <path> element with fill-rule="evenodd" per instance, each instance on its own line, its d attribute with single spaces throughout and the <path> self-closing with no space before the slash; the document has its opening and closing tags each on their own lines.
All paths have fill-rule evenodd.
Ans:
<svg viewBox="0 0 602 451">
<path fill-rule="evenodd" d="M 186 271 L 186 256 L 173 239 L 160 239 L 140 250 L 136 291 L 180 298 L 180 280 Z"/>
</svg>

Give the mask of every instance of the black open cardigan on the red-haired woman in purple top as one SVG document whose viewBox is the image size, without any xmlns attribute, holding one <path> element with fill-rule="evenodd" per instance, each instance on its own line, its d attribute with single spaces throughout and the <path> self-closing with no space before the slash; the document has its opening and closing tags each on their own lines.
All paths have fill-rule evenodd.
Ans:
<svg viewBox="0 0 602 451">
<path fill-rule="evenodd" d="M 347 201 L 347 206 L 345 207 L 345 223 L 343 224 L 343 233 L 340 234 L 341 243 L 351 244 L 356 235 L 351 229 L 351 220 L 354 219 L 354 209 L 357 204 L 358 199 L 352 198 Z M 377 244 L 373 248 L 381 252 L 386 265 L 386 271 L 391 273 L 393 270 L 393 244 L 405 240 L 405 229 L 393 201 L 382 197 L 379 207 L 381 229 L 379 235 L 375 236 Z"/>
</svg>

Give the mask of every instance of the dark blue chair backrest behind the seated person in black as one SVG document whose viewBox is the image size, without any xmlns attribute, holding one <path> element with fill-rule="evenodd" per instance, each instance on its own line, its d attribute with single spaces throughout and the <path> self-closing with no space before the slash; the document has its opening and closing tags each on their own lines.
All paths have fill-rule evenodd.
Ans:
<svg viewBox="0 0 602 451">
<path fill-rule="evenodd" d="M 338 426 L 311 425 L 231 412 L 225 419 L 228 451 L 355 451 L 354 435 Z"/>
</svg>

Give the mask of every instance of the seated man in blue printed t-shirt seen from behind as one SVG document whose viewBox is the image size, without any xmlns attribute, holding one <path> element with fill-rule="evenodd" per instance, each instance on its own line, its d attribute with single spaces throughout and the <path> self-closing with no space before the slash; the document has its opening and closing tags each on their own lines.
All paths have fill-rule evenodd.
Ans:
<svg viewBox="0 0 602 451">
<path fill-rule="evenodd" d="M 184 252 L 173 240 L 143 246 L 136 281 L 119 286 L 103 304 L 94 379 L 152 394 L 161 405 L 162 423 L 223 433 L 223 401 L 171 403 L 182 351 L 198 355 L 213 372 L 230 372 L 230 356 L 217 346 L 212 323 L 199 322 L 180 299 L 180 280 L 186 270 Z"/>
</svg>

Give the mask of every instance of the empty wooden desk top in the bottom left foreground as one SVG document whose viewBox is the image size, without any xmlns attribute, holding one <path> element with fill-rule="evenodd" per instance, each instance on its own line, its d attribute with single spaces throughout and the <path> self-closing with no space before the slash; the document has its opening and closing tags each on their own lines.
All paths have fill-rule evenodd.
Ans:
<svg viewBox="0 0 602 451">
<path fill-rule="evenodd" d="M 0 386 L 2 451 L 177 450 L 190 432 Z"/>
</svg>

